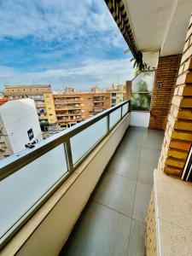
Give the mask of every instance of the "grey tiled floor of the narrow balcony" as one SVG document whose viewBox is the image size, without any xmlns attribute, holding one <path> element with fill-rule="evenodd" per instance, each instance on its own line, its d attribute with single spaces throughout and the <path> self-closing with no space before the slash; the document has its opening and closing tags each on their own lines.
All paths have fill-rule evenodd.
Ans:
<svg viewBox="0 0 192 256">
<path fill-rule="evenodd" d="M 163 137 L 163 131 L 129 128 L 61 255 L 144 255 L 144 221 Z"/>
</svg>

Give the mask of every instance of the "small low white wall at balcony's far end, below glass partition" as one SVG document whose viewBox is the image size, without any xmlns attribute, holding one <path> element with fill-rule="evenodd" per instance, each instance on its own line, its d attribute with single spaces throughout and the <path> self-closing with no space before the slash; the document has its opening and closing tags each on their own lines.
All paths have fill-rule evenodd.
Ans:
<svg viewBox="0 0 192 256">
<path fill-rule="evenodd" d="M 148 127 L 150 119 L 150 113 L 145 111 L 131 111 L 131 123 L 132 126 Z"/>
</svg>

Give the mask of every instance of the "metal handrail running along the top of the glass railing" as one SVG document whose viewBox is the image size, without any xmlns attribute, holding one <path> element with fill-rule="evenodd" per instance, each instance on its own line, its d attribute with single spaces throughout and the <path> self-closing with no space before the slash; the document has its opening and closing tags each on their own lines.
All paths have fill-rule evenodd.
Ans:
<svg viewBox="0 0 192 256">
<path fill-rule="evenodd" d="M 96 116 L 86 119 L 77 125 L 73 125 L 68 128 L 67 131 L 61 131 L 59 134 L 55 134 L 52 137 L 48 137 L 45 141 L 40 142 L 35 145 L 35 148 L 26 148 L 20 151 L 18 154 L 12 154 L 8 158 L 0 160 L 0 181 L 5 177 L 9 177 L 14 172 L 20 170 L 20 168 L 28 165 L 33 160 L 38 159 L 38 157 L 47 153 L 52 148 L 60 145 L 61 143 L 66 143 L 74 135 L 78 134 L 80 131 L 88 128 L 90 125 L 95 124 L 100 119 L 109 115 L 118 108 L 122 108 L 127 102 L 121 102 L 119 105 L 109 108 L 102 113 L 98 113 Z M 109 121 L 109 119 L 108 119 Z M 73 169 L 73 168 L 71 168 Z"/>
</svg>

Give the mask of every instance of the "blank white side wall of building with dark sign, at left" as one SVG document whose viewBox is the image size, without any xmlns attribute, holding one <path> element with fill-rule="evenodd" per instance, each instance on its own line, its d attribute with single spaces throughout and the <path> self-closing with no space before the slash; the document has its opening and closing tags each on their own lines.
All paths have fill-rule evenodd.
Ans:
<svg viewBox="0 0 192 256">
<path fill-rule="evenodd" d="M 25 148 L 26 143 L 30 142 L 27 131 L 31 128 L 34 134 L 32 141 L 43 140 L 37 110 L 32 99 L 6 102 L 0 107 L 0 116 L 4 126 L 3 132 L 8 135 L 7 139 L 13 153 L 19 152 Z"/>
</svg>

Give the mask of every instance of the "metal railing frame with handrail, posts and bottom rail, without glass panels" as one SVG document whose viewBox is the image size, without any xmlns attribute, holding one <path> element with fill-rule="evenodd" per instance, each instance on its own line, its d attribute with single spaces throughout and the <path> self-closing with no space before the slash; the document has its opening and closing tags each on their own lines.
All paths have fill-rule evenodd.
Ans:
<svg viewBox="0 0 192 256">
<path fill-rule="evenodd" d="M 20 219 L 7 231 L 6 234 L 4 234 L 0 238 L 0 248 L 2 248 L 11 237 L 15 236 L 15 233 L 20 230 L 20 228 L 26 223 L 26 221 L 32 217 L 32 214 L 38 211 L 38 209 L 44 204 L 45 201 L 48 200 L 48 198 L 53 195 L 56 189 L 58 189 L 59 186 L 61 186 L 61 183 L 63 183 L 67 177 L 69 177 L 73 171 L 84 161 L 84 159 L 87 158 L 87 156 L 96 148 L 96 146 L 101 143 L 101 141 L 104 139 L 104 137 L 108 136 L 108 133 L 113 130 L 113 128 L 119 124 L 119 121 L 125 117 L 125 114 L 123 115 L 123 106 L 128 103 L 127 112 L 130 111 L 130 102 L 125 101 L 121 102 L 119 105 L 114 106 L 113 108 L 109 108 L 106 111 L 97 114 L 96 116 L 93 116 L 90 119 L 86 119 L 83 122 L 74 125 L 67 129 L 67 131 L 61 131 L 59 134 L 55 134 L 52 137 L 47 138 L 45 141 L 36 144 L 35 148 L 26 148 L 22 151 L 20 151 L 19 154 L 13 154 L 9 156 L 8 158 L 0 161 L 0 182 L 6 178 L 12 175 L 13 173 L 19 171 L 22 167 L 30 164 L 32 161 L 37 160 L 39 157 L 41 157 L 43 154 L 46 154 L 49 152 L 49 150 L 57 147 L 60 144 L 64 145 L 65 148 L 65 155 L 66 155 L 66 161 L 67 161 L 67 172 L 64 173 L 63 177 L 55 184 L 53 183 L 53 186 L 44 194 L 37 202 L 34 203 L 34 205 L 23 215 L 20 217 Z M 120 119 L 118 122 L 113 125 L 113 127 L 110 128 L 110 113 L 113 113 L 116 109 L 121 108 L 121 114 Z M 93 147 L 90 148 L 83 156 L 79 159 L 77 163 L 73 163 L 73 154 L 71 149 L 71 143 L 70 138 L 75 136 L 81 131 L 84 131 L 84 129 L 90 127 L 90 125 L 95 124 L 97 121 L 101 120 L 102 118 L 107 117 L 107 132 L 106 134 L 99 139 Z"/>
</svg>

